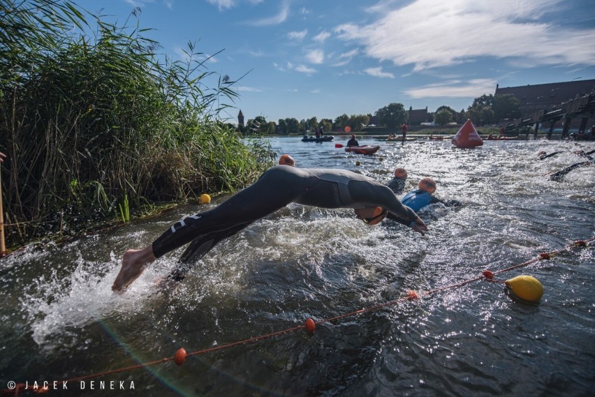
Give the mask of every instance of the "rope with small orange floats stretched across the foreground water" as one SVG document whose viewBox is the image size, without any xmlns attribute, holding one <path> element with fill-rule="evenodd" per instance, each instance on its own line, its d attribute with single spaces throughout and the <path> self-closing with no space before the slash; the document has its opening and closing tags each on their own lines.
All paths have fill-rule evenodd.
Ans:
<svg viewBox="0 0 595 397">
<path fill-rule="evenodd" d="M 527 262 L 522 262 L 520 264 L 515 264 L 514 266 L 511 267 L 507 267 L 506 269 L 501 269 L 498 271 L 489 271 L 486 270 L 483 272 L 482 276 L 478 276 L 478 277 L 474 277 L 474 278 L 469 278 L 467 280 L 463 280 L 460 283 L 454 283 L 454 284 L 450 284 L 450 285 L 445 285 L 443 287 L 439 287 L 439 288 L 434 288 L 433 290 L 428 290 L 425 292 L 420 292 L 418 294 L 418 292 L 415 291 L 407 291 L 406 296 L 404 297 L 400 297 L 398 299 L 392 300 L 392 301 L 388 301 L 385 302 L 383 304 L 376 304 L 374 306 L 369 306 L 367 308 L 361 308 L 359 310 L 355 310 L 352 311 L 350 313 L 344 313 L 341 315 L 336 315 L 334 317 L 328 317 L 325 318 L 323 320 L 318 320 L 315 321 L 311 318 L 308 318 L 304 324 L 302 325 L 298 325 L 295 327 L 291 327 L 288 329 L 282 329 L 281 331 L 275 331 L 272 332 L 270 334 L 264 334 L 264 335 L 260 335 L 260 336 L 254 336 L 253 338 L 247 338 L 247 339 L 243 339 L 243 340 L 238 340 L 237 342 L 232 342 L 232 343 L 227 343 L 225 345 L 219 345 L 219 346 L 214 346 L 214 347 L 207 347 L 206 349 L 203 350 L 196 350 L 195 352 L 190 352 L 187 353 L 186 350 L 184 350 L 184 348 L 180 348 L 175 352 L 174 357 L 166 357 L 160 360 L 156 360 L 156 361 L 149 361 L 147 363 L 141 363 L 141 364 L 136 364 L 133 366 L 127 366 L 127 367 L 123 367 L 123 368 L 117 368 L 114 370 L 107 370 L 107 371 L 103 371 L 100 373 L 94 373 L 94 374 L 90 374 L 90 375 L 84 375 L 84 376 L 80 376 L 80 377 L 73 377 L 71 379 L 68 380 L 61 380 L 61 381 L 57 381 L 57 384 L 62 384 L 64 382 L 80 382 L 82 380 L 88 380 L 91 378 L 95 378 L 95 377 L 102 377 L 105 375 L 113 375 L 115 373 L 123 373 L 123 372 L 127 372 L 130 370 L 135 370 L 135 369 L 139 369 L 139 368 L 145 368 L 148 366 L 154 366 L 157 364 L 164 364 L 167 363 L 168 361 L 174 361 L 175 364 L 177 364 L 178 366 L 181 366 L 182 364 L 184 364 L 184 361 L 186 360 L 186 357 L 190 357 L 190 356 L 197 356 L 199 354 L 206 354 L 206 353 L 210 353 L 210 352 L 215 352 L 216 350 L 223 350 L 223 349 L 228 349 L 230 347 L 234 347 L 237 345 L 245 345 L 247 343 L 254 343 L 257 342 L 258 340 L 264 340 L 264 339 L 268 339 L 268 338 L 272 338 L 274 336 L 279 336 L 282 334 L 288 334 L 290 332 L 293 331 L 298 331 L 300 329 L 306 329 L 306 331 L 309 334 L 312 334 L 314 332 L 314 330 L 316 329 L 316 324 L 323 324 L 325 322 L 333 322 L 336 320 L 341 320 L 345 317 L 351 317 L 353 315 L 359 315 L 362 313 L 367 313 L 369 311 L 372 310 L 378 310 L 380 308 L 384 308 L 386 306 L 393 306 L 396 304 L 399 304 L 401 302 L 404 301 L 414 301 L 416 299 L 420 298 L 420 295 L 423 296 L 429 296 L 432 294 L 435 294 L 436 292 L 442 292 L 445 290 L 453 290 L 457 287 L 462 287 L 463 285 L 467 285 L 469 283 L 473 283 L 474 281 L 478 281 L 478 280 L 487 280 L 487 281 L 492 281 L 492 282 L 500 282 L 498 280 L 492 280 L 492 276 L 494 274 L 501 274 L 501 273 L 505 273 L 506 271 L 510 271 L 513 269 L 517 269 L 520 267 L 526 267 L 529 264 L 532 263 L 536 263 L 536 262 L 540 262 L 542 260 L 550 260 L 552 257 L 554 257 L 555 255 L 559 255 L 560 253 L 564 253 L 564 252 L 571 252 L 571 250 L 573 250 L 573 248 L 577 248 L 577 247 L 587 247 L 589 246 L 589 243 L 595 241 L 595 237 L 592 237 L 591 239 L 587 239 L 587 240 L 577 240 L 574 241 L 573 244 L 567 246 L 566 248 L 562 248 L 560 250 L 557 251 L 552 251 L 550 253 L 540 253 L 537 257 L 534 257 L 531 260 L 527 260 Z M 41 382 L 43 384 L 43 382 Z M 51 382 L 52 384 L 54 383 L 54 381 Z M 2 396 L 18 396 L 20 391 L 34 391 L 34 393 L 45 393 L 47 391 L 49 391 L 49 389 L 47 389 L 47 387 L 38 387 L 36 389 L 33 389 L 31 386 L 29 386 L 29 388 L 25 388 L 26 384 L 24 383 L 18 383 L 15 384 L 13 389 L 2 389 L 1 390 L 1 395 Z"/>
</svg>

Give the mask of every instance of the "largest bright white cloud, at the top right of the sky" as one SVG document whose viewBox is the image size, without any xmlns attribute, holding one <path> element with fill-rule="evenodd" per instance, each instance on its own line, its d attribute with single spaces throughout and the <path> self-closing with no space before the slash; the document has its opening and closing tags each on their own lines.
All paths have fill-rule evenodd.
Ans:
<svg viewBox="0 0 595 397">
<path fill-rule="evenodd" d="M 365 47 L 368 57 L 414 70 L 466 63 L 477 57 L 529 60 L 526 67 L 595 64 L 595 29 L 581 31 L 548 24 L 562 0 L 416 0 L 395 9 L 376 4 L 381 19 L 344 24 L 339 38 Z M 545 15 L 545 16 L 544 16 Z M 539 18 L 543 17 L 543 21 Z"/>
</svg>

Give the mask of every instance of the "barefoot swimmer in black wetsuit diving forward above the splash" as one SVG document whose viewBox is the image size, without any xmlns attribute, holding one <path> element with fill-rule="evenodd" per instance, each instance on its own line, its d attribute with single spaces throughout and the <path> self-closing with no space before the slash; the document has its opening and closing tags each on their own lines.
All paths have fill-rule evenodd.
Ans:
<svg viewBox="0 0 595 397">
<path fill-rule="evenodd" d="M 140 250 L 126 250 L 112 290 L 123 292 L 149 263 L 190 243 L 166 284 L 182 281 L 192 263 L 219 241 L 291 202 L 321 208 L 351 208 L 369 225 L 376 225 L 391 214 L 392 219 L 408 225 L 415 232 L 424 234 L 427 231 L 423 220 L 401 204 L 390 188 L 379 181 L 346 170 L 277 165 L 214 209 L 175 223 L 151 245 Z"/>
</svg>

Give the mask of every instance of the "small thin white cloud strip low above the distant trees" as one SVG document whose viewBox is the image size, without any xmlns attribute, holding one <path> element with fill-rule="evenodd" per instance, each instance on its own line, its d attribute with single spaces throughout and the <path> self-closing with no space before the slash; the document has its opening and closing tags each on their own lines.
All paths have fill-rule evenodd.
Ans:
<svg viewBox="0 0 595 397">
<path fill-rule="evenodd" d="M 441 84 L 429 84 L 424 87 L 404 91 L 411 98 L 477 98 L 485 93 L 494 92 L 496 80 L 450 80 Z"/>
</svg>

